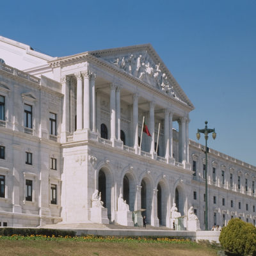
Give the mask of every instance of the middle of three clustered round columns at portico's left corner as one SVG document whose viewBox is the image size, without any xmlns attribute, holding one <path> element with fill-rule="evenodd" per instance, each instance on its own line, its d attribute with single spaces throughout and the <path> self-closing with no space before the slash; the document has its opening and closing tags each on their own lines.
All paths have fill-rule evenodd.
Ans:
<svg viewBox="0 0 256 256">
<path fill-rule="evenodd" d="M 84 129 L 90 130 L 90 77 L 92 74 L 88 70 L 82 74 L 84 77 Z"/>
</svg>

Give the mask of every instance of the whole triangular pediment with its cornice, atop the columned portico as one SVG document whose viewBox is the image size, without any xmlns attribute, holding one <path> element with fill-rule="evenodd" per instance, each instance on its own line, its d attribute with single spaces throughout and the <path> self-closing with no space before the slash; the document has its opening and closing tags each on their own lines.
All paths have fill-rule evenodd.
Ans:
<svg viewBox="0 0 256 256">
<path fill-rule="evenodd" d="M 107 61 L 112 67 L 150 84 L 161 92 L 181 100 L 194 109 L 182 88 L 164 65 L 152 45 L 134 45 L 88 52 Z"/>
</svg>

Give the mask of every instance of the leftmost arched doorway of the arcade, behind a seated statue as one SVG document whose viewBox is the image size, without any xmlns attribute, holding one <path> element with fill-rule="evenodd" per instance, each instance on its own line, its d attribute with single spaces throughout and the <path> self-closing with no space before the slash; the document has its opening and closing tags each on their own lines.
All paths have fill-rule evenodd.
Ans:
<svg viewBox="0 0 256 256">
<path fill-rule="evenodd" d="M 111 220 L 111 173 L 108 170 L 100 169 L 98 179 L 98 190 L 101 193 L 103 206 L 108 209 L 108 218 Z"/>
</svg>

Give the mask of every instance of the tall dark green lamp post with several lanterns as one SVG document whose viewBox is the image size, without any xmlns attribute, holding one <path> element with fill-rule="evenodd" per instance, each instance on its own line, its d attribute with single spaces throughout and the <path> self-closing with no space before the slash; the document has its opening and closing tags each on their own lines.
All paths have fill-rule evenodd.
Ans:
<svg viewBox="0 0 256 256">
<path fill-rule="evenodd" d="M 197 140 L 200 139 L 200 133 L 204 133 L 205 138 L 205 230 L 208 230 L 208 205 L 207 205 L 207 140 L 208 134 L 212 132 L 213 140 L 216 139 L 216 132 L 214 129 L 207 128 L 208 122 L 205 121 L 205 128 L 204 129 L 197 129 L 196 138 Z"/>
</svg>

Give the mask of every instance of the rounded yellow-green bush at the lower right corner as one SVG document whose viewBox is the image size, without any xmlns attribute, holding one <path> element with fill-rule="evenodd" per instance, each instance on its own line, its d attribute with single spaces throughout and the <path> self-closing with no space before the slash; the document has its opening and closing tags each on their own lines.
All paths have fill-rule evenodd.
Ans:
<svg viewBox="0 0 256 256">
<path fill-rule="evenodd" d="M 228 221 L 223 227 L 220 237 L 221 246 L 225 250 L 240 255 L 256 255 L 256 228 L 238 218 Z"/>
</svg>

